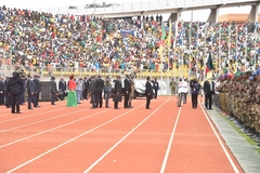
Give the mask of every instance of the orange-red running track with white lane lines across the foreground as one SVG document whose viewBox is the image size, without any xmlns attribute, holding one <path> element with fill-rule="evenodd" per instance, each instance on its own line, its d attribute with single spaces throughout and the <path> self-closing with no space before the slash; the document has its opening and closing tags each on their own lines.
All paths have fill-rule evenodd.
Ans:
<svg viewBox="0 0 260 173">
<path fill-rule="evenodd" d="M 22 115 L 0 107 L 0 172 L 243 172 L 204 109 L 179 108 L 176 96 L 152 109 L 144 98 L 118 110 L 41 104 Z"/>
</svg>

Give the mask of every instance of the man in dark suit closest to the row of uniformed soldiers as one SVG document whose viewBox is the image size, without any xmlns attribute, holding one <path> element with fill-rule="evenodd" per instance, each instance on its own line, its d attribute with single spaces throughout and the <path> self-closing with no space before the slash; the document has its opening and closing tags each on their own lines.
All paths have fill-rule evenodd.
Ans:
<svg viewBox="0 0 260 173">
<path fill-rule="evenodd" d="M 212 95 L 214 83 L 210 80 L 204 82 L 205 108 L 212 109 Z"/>
</svg>

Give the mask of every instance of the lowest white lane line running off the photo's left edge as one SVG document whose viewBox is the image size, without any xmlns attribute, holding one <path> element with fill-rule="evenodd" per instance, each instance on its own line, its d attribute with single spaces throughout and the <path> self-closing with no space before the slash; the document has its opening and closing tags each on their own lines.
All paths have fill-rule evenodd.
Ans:
<svg viewBox="0 0 260 173">
<path fill-rule="evenodd" d="M 80 111 L 81 111 L 81 110 L 80 110 Z M 4 147 L 6 147 L 6 146 L 10 146 L 10 145 L 13 145 L 13 144 L 20 143 L 20 142 L 22 142 L 22 141 L 25 141 L 25 139 L 28 139 L 28 138 L 31 138 L 31 137 L 35 137 L 35 136 L 41 135 L 41 134 L 43 134 L 43 133 L 47 133 L 47 132 L 50 132 L 50 131 L 54 131 L 54 130 L 60 129 L 60 128 L 63 128 L 63 127 L 70 125 L 70 124 L 73 124 L 73 123 L 76 123 L 76 122 L 82 121 L 82 120 L 84 120 L 84 119 L 89 119 L 89 118 L 91 118 L 91 117 L 94 117 L 94 116 L 96 116 L 96 115 L 101 115 L 101 114 L 106 112 L 106 111 L 108 111 L 108 109 L 103 110 L 103 111 L 99 111 L 99 112 L 93 114 L 93 115 L 91 115 L 91 116 L 83 117 L 83 118 L 80 118 L 80 119 L 77 119 L 77 120 L 70 121 L 70 122 L 68 122 L 68 123 L 64 123 L 64 124 L 62 124 L 62 125 L 58 125 L 58 127 L 55 127 L 55 128 L 52 128 L 52 129 L 49 129 L 49 130 L 46 130 L 46 131 L 42 131 L 42 132 L 36 133 L 36 134 L 32 134 L 32 135 L 30 135 L 30 136 L 26 136 L 26 137 L 24 137 L 24 138 L 20 138 L 20 139 L 17 139 L 17 141 L 14 141 L 14 142 L 11 142 L 11 143 L 8 143 L 8 144 L 4 144 L 4 145 L 1 145 L 1 146 L 0 146 L 0 149 L 1 149 L 1 148 L 4 148 Z M 67 114 L 67 115 L 74 115 L 75 112 L 79 112 L 79 111 L 69 112 L 69 114 Z"/>
</svg>

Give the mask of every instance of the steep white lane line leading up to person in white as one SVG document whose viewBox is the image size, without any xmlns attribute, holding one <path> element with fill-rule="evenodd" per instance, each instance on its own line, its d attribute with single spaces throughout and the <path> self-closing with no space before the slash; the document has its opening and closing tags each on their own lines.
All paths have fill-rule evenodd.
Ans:
<svg viewBox="0 0 260 173">
<path fill-rule="evenodd" d="M 170 141 L 169 141 L 169 143 L 168 143 L 168 147 L 167 147 L 167 150 L 166 150 L 166 155 L 165 155 L 165 158 L 164 158 L 161 168 L 160 168 L 160 173 L 164 173 L 164 172 L 165 172 L 165 169 L 166 169 L 167 160 L 168 160 L 168 158 L 169 158 L 170 150 L 171 150 L 171 146 L 172 146 L 172 142 L 173 142 L 173 137 L 174 137 L 174 134 L 176 134 L 177 124 L 178 124 L 179 119 L 180 119 L 180 116 L 181 116 L 181 110 L 182 110 L 182 107 L 180 107 L 180 109 L 179 109 L 179 111 L 178 111 L 178 116 L 177 116 L 177 119 L 176 119 L 176 123 L 174 123 L 174 125 L 173 125 L 173 129 L 172 129 L 172 132 L 171 132 L 171 136 L 170 136 Z"/>
</svg>

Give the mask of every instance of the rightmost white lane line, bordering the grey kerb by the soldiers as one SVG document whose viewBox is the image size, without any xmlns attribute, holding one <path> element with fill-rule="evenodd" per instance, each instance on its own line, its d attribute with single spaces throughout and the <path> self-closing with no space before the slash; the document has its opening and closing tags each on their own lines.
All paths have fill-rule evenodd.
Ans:
<svg viewBox="0 0 260 173">
<path fill-rule="evenodd" d="M 219 141 L 219 144 L 220 144 L 220 146 L 222 147 L 222 149 L 223 149 L 223 151 L 224 151 L 224 154 L 225 154 L 226 158 L 229 159 L 229 161 L 230 161 L 230 163 L 231 163 L 231 165 L 232 165 L 233 170 L 235 171 L 235 173 L 239 173 L 239 171 L 237 170 L 237 168 L 236 168 L 235 163 L 233 162 L 233 160 L 232 160 L 232 158 L 231 158 L 230 154 L 229 154 L 229 152 L 227 152 L 227 150 L 225 149 L 225 146 L 224 146 L 224 144 L 223 144 L 223 143 L 222 143 L 222 141 L 220 139 L 220 136 L 219 136 L 219 134 L 218 134 L 218 133 L 217 133 L 217 131 L 214 130 L 214 127 L 212 125 L 211 121 L 209 120 L 209 117 L 208 117 L 208 115 L 207 115 L 207 114 L 206 114 L 206 111 L 204 110 L 204 108 L 203 108 L 202 104 L 200 104 L 200 103 L 198 103 L 198 104 L 199 104 L 200 108 L 203 109 L 204 116 L 205 116 L 205 117 L 206 117 L 206 119 L 208 120 L 208 122 L 209 122 L 209 124 L 210 124 L 210 127 L 211 127 L 211 129 L 212 129 L 212 131 L 213 131 L 213 133 L 214 133 L 216 137 L 218 138 L 218 141 Z"/>
</svg>

